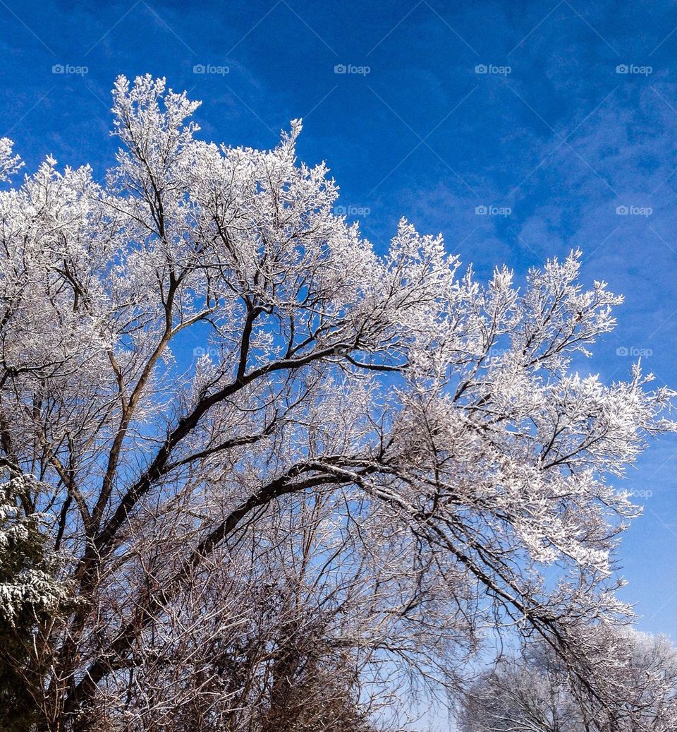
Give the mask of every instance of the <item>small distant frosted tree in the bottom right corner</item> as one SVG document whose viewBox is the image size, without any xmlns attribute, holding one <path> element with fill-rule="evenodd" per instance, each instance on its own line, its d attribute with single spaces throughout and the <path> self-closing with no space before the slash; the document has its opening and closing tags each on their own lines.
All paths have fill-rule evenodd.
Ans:
<svg viewBox="0 0 677 732">
<path fill-rule="evenodd" d="M 616 663 L 601 706 L 545 643 L 503 657 L 461 695 L 462 732 L 668 732 L 677 725 L 677 649 L 664 636 L 600 628 Z"/>
</svg>

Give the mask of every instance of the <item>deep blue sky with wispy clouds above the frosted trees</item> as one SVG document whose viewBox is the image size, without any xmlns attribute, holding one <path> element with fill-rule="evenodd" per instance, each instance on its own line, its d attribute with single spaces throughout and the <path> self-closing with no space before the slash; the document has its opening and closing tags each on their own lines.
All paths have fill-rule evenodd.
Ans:
<svg viewBox="0 0 677 732">
<path fill-rule="evenodd" d="M 101 176 L 121 73 L 203 100 L 216 142 L 268 148 L 303 117 L 300 157 L 377 247 L 403 215 L 480 277 L 580 247 L 584 279 L 626 296 L 591 370 L 643 352 L 677 386 L 676 51 L 665 1 L 0 0 L 0 136 L 29 170 Z M 646 512 L 621 550 L 640 627 L 673 637 L 676 469 L 672 437 L 630 471 Z"/>
</svg>

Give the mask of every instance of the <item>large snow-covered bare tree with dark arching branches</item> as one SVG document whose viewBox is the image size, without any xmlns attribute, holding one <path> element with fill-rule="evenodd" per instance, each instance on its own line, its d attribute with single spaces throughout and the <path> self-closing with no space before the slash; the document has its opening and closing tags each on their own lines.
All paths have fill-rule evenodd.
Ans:
<svg viewBox="0 0 677 732">
<path fill-rule="evenodd" d="M 228 148 L 162 79 L 113 97 L 105 184 L 48 158 L 0 194 L 0 447 L 77 600 L 34 643 L 41 728 L 376 719 L 487 627 L 603 698 L 637 512 L 608 477 L 674 427 L 639 365 L 572 373 L 621 298 L 578 252 L 478 283 L 404 220 L 377 254 L 300 122 Z"/>
</svg>

